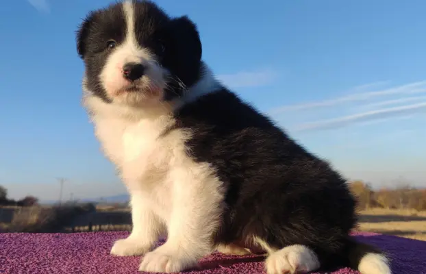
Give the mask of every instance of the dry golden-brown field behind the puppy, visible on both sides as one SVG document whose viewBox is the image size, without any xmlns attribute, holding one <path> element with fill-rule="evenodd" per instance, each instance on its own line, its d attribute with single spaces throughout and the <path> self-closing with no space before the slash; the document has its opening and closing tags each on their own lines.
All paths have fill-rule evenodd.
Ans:
<svg viewBox="0 0 426 274">
<path fill-rule="evenodd" d="M 96 232 L 131 229 L 129 208 L 97 206 L 88 210 L 80 206 L 66 206 L 43 213 L 45 211 L 36 207 L 21 210 L 16 215 L 12 214 L 12 210 L 13 208 L 0 208 L 0 217 L 3 216 L 0 218 L 0 231 Z M 426 211 L 380 208 L 363 210 L 360 212 L 360 230 L 426 240 Z"/>
</svg>

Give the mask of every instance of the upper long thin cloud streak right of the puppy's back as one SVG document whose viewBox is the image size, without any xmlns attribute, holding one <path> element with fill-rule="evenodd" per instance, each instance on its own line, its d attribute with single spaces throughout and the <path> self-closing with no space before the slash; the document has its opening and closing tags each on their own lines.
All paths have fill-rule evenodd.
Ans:
<svg viewBox="0 0 426 274">
<path fill-rule="evenodd" d="M 358 88 L 354 88 L 357 90 Z M 412 95 L 417 93 L 426 92 L 426 81 L 414 82 L 405 84 L 403 86 L 397 86 L 394 88 L 387 88 L 385 90 L 377 90 L 370 92 L 356 92 L 353 95 L 345 95 L 342 97 L 327 99 L 323 101 L 314 101 L 310 103 L 301 103 L 297 105 L 284 105 L 279 108 L 271 110 L 272 114 L 278 114 L 281 112 L 295 111 L 295 110 L 308 110 L 312 108 L 329 107 L 338 105 L 340 103 L 348 103 L 353 101 L 366 101 L 368 99 L 375 99 L 376 97 L 383 97 L 386 95 Z"/>
</svg>

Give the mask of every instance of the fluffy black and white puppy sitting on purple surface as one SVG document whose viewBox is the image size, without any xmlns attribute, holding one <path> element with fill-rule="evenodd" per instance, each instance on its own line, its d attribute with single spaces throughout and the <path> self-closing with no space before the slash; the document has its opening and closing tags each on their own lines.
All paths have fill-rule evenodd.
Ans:
<svg viewBox="0 0 426 274">
<path fill-rule="evenodd" d="M 266 253 L 268 274 L 390 273 L 384 253 L 349 236 L 344 179 L 215 79 L 188 17 L 114 3 L 84 19 L 77 52 L 84 106 L 131 197 L 133 228 L 113 255 L 157 273 L 213 251 Z"/>
</svg>

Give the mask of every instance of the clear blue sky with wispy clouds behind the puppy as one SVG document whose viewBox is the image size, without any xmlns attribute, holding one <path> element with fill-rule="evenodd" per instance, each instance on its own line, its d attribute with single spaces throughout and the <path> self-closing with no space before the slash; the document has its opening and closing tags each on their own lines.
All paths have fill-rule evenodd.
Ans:
<svg viewBox="0 0 426 274">
<path fill-rule="evenodd" d="M 75 30 L 109 1 L 0 8 L 0 185 L 14 198 L 125 192 L 80 105 Z M 426 186 L 426 1 L 158 0 L 199 27 L 243 99 L 350 179 Z"/>
</svg>

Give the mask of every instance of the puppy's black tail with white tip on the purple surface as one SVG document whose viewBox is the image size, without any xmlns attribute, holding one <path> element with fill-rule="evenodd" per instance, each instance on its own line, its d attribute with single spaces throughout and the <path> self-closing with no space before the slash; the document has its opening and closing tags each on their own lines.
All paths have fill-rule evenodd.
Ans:
<svg viewBox="0 0 426 274">
<path fill-rule="evenodd" d="M 391 274 L 386 254 L 376 247 L 348 237 L 346 240 L 347 259 L 352 269 L 362 274 Z"/>
</svg>

